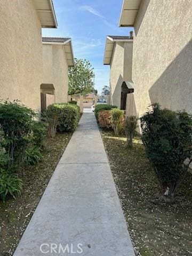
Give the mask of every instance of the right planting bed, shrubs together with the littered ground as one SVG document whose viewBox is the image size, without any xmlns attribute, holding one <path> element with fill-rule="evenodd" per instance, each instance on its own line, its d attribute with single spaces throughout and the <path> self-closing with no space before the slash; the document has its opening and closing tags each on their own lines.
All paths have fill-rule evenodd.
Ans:
<svg viewBox="0 0 192 256">
<path fill-rule="evenodd" d="M 135 254 L 191 255 L 191 116 L 156 103 L 140 119 L 142 135 L 137 117 L 115 135 L 106 115 L 107 127 L 98 122 Z"/>
</svg>

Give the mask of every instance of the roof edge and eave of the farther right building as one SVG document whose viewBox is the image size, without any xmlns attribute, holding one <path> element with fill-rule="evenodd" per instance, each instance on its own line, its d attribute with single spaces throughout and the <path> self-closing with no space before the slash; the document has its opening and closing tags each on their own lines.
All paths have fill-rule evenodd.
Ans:
<svg viewBox="0 0 192 256">
<path fill-rule="evenodd" d="M 133 42 L 130 36 L 107 36 L 103 64 L 110 65 L 116 42 Z"/>
</svg>

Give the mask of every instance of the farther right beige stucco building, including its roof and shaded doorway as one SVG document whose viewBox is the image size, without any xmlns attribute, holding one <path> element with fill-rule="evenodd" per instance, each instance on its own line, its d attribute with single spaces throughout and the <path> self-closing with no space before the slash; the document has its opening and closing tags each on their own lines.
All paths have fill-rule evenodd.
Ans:
<svg viewBox="0 0 192 256">
<path fill-rule="evenodd" d="M 127 93 L 132 86 L 133 37 L 107 36 L 104 65 L 110 65 L 110 104 L 126 108 Z"/>
</svg>

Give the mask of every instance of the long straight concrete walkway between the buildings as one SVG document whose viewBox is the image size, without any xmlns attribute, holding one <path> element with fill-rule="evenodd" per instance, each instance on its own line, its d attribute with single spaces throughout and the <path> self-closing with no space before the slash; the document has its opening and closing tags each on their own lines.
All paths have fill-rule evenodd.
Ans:
<svg viewBox="0 0 192 256">
<path fill-rule="evenodd" d="M 74 254 L 134 255 L 93 113 L 83 114 L 14 256 Z"/>
</svg>

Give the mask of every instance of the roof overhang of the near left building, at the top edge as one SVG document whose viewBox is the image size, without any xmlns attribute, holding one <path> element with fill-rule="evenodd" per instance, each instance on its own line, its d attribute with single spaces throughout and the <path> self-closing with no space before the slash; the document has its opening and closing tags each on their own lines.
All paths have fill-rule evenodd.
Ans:
<svg viewBox="0 0 192 256">
<path fill-rule="evenodd" d="M 58 23 L 52 0 L 34 0 L 42 28 L 57 28 Z"/>
</svg>

